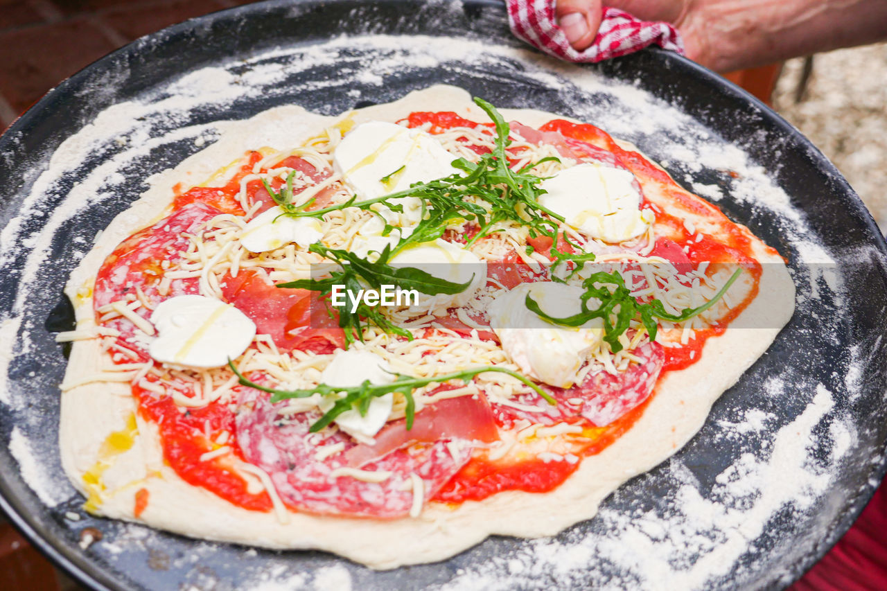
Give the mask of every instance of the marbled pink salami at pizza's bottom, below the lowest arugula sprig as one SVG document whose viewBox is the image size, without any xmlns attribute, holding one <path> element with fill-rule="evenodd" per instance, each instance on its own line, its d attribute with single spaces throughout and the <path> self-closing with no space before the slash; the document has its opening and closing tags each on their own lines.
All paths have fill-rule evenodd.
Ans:
<svg viewBox="0 0 887 591">
<path fill-rule="evenodd" d="M 287 418 L 280 414 L 286 404 L 272 405 L 267 394 L 242 389 L 235 419 L 237 440 L 244 459 L 265 470 L 281 500 L 300 511 L 376 518 L 407 516 L 415 494 L 411 475 L 421 479 L 424 502 L 459 471 L 473 449 L 468 442 L 446 445 L 443 440 L 411 445 L 362 467 L 384 477 L 381 482 L 365 482 L 348 474 L 336 476 L 336 469 L 348 471 L 346 454 L 357 444 L 341 432 L 326 438 L 310 434 L 310 425 L 320 418 L 319 412 Z M 343 452 L 323 458 L 323 450 L 330 445 L 342 447 Z"/>
</svg>

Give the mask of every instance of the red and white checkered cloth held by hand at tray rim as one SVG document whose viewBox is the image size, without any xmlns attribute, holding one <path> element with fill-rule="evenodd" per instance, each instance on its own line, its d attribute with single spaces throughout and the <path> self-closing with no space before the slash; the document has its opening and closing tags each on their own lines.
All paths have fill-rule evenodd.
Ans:
<svg viewBox="0 0 887 591">
<path fill-rule="evenodd" d="M 667 22 L 635 19 L 628 12 L 604 7 L 598 35 L 585 51 L 576 51 L 554 19 L 554 0 L 506 0 L 508 24 L 518 38 L 567 61 L 598 62 L 617 58 L 648 45 L 684 53 L 678 31 Z"/>
</svg>

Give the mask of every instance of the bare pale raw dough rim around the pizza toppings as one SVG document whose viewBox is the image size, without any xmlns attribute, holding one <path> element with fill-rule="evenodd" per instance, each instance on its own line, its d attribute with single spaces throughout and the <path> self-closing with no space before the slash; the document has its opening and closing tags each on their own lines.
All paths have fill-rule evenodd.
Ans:
<svg viewBox="0 0 887 591">
<path fill-rule="evenodd" d="M 486 120 L 466 91 L 451 86 L 434 86 L 394 103 L 369 106 L 353 118 L 358 123 L 394 122 L 412 111 L 456 111 L 474 121 Z M 529 109 L 500 111 L 506 121 L 531 126 L 561 117 Z M 248 149 L 298 145 L 337 119 L 298 106 L 281 106 L 247 121 L 220 123 L 222 136 L 215 144 L 152 177 L 151 188 L 114 218 L 71 276 L 66 293 L 75 303 L 77 327 L 95 327 L 90 288 L 99 266 L 123 239 L 167 215 L 174 185 L 198 185 L 220 164 L 239 159 Z M 655 195 L 648 194 L 648 199 L 655 201 Z M 549 493 L 509 491 L 482 501 L 469 500 L 457 508 L 431 503 L 418 517 L 394 520 L 289 513 L 288 523 L 282 524 L 273 512 L 239 508 L 185 483 L 164 464 L 153 423 L 137 418 L 135 445 L 114 456 L 102 475 L 109 498 L 98 512 L 193 538 L 327 550 L 376 569 L 442 560 L 492 534 L 553 535 L 593 517 L 616 487 L 685 445 L 703 426 L 714 401 L 767 350 L 789 321 L 795 302 L 789 272 L 780 256 L 749 235 L 763 267 L 757 298 L 734 320 L 734 327 L 705 343 L 702 360 L 660 379 L 632 429 L 601 453 L 586 457 L 571 477 Z M 106 437 L 126 429 L 137 407 L 129 382 L 90 382 L 91 375 L 110 364 L 98 339 L 93 339 L 74 344 L 67 366 L 65 382 L 82 385 L 62 394 L 59 445 L 67 476 L 84 494 L 84 473 L 96 465 Z M 135 493 L 142 488 L 149 492 L 150 502 L 136 518 Z"/>
</svg>

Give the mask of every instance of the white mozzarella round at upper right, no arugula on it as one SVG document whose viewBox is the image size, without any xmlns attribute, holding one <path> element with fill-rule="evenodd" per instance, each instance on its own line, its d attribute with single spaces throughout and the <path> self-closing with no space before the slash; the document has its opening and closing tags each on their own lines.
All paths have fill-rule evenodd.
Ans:
<svg viewBox="0 0 887 591">
<path fill-rule="evenodd" d="M 640 211 L 634 175 L 624 169 L 582 163 L 539 184 L 539 203 L 591 238 L 616 243 L 647 232 L 651 216 Z"/>
</svg>

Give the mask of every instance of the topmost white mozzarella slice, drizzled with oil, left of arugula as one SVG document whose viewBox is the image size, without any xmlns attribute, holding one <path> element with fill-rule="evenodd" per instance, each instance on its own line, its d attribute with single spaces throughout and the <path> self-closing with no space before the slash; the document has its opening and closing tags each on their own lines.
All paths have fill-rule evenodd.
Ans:
<svg viewBox="0 0 887 591">
<path fill-rule="evenodd" d="M 333 154 L 334 169 L 361 199 L 373 199 L 410 188 L 413 183 L 449 177 L 459 172 L 451 166 L 456 156 L 421 130 L 396 123 L 361 123 L 341 139 Z M 385 179 L 385 180 L 383 180 Z M 404 197 L 398 214 L 384 206 L 374 209 L 391 225 L 411 227 L 420 222 L 421 201 Z"/>
</svg>

